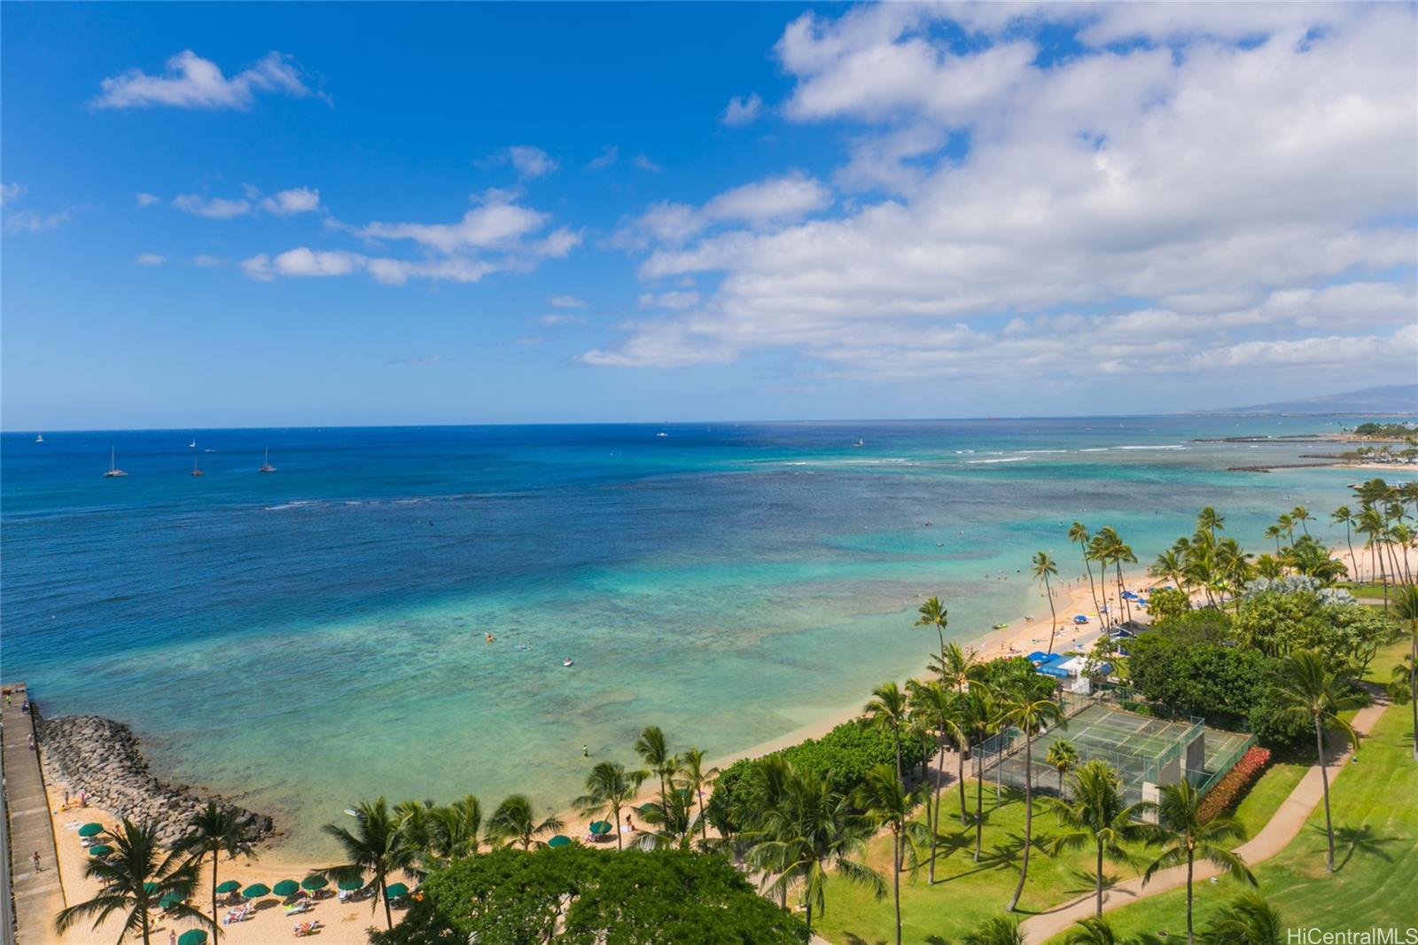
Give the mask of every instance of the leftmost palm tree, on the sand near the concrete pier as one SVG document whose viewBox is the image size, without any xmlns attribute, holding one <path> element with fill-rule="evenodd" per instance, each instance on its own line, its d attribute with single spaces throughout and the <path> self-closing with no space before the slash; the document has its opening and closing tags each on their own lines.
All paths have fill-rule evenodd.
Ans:
<svg viewBox="0 0 1418 945">
<path fill-rule="evenodd" d="M 197 890 L 197 864 L 182 853 L 162 856 L 157 843 L 157 826 L 138 826 L 128 817 L 118 830 L 106 831 L 104 840 L 113 847 L 109 857 L 91 857 L 84 864 L 84 877 L 98 880 L 101 892 L 86 902 L 71 905 L 61 911 L 54 927 L 60 935 L 72 928 L 81 918 L 94 917 L 92 929 L 115 912 L 126 912 L 123 928 L 118 934 L 122 945 L 129 932 L 143 936 L 143 945 L 152 942 L 152 918 L 164 908 L 163 900 L 187 900 Z M 4 892 L 9 895 L 9 891 Z M 169 902 L 166 910 L 177 918 L 196 919 L 216 928 L 216 922 L 186 901 Z"/>
</svg>

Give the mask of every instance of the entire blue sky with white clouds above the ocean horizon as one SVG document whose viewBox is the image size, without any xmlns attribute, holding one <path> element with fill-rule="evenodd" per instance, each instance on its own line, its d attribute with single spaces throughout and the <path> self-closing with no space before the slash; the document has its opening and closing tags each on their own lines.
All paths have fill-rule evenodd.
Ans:
<svg viewBox="0 0 1418 945">
<path fill-rule="evenodd" d="M 6 4 L 6 429 L 1412 380 L 1414 7 Z"/>
</svg>

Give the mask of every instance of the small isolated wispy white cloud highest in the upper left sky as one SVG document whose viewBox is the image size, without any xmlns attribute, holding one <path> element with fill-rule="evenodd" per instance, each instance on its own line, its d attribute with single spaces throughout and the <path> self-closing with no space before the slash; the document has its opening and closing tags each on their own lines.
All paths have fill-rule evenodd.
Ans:
<svg viewBox="0 0 1418 945">
<path fill-rule="evenodd" d="M 104 79 L 99 88 L 102 91 L 92 101 L 94 108 L 170 105 L 245 111 L 255 102 L 257 92 L 278 92 L 291 98 L 316 95 L 306 84 L 299 65 L 282 52 L 268 52 L 227 78 L 216 62 L 201 58 L 191 50 L 183 50 L 167 60 L 167 71 L 163 75 L 129 70 Z"/>
</svg>

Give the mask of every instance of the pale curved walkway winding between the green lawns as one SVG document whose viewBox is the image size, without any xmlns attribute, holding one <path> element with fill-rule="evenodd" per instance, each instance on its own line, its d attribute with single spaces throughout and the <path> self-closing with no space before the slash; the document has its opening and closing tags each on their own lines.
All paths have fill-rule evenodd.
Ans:
<svg viewBox="0 0 1418 945">
<path fill-rule="evenodd" d="M 1385 708 L 1388 708 L 1388 698 L 1380 690 L 1371 688 L 1370 695 L 1374 697 L 1373 705 L 1364 707 L 1354 715 L 1353 725 L 1360 735 L 1368 735 L 1368 732 L 1373 731 L 1374 724 L 1378 722 L 1378 717 L 1384 714 Z M 1329 763 L 1329 778 L 1332 786 L 1334 779 L 1339 778 L 1349 765 L 1350 753 L 1351 751 L 1346 751 Z M 1323 797 L 1324 785 L 1320 780 L 1320 766 L 1314 765 L 1305 772 L 1300 783 L 1296 785 L 1295 790 L 1290 792 L 1290 796 L 1285 799 L 1280 807 L 1275 812 L 1275 816 L 1271 817 L 1269 823 L 1266 823 L 1258 834 L 1236 847 L 1236 853 L 1242 860 L 1245 860 L 1246 866 L 1255 866 L 1256 863 L 1269 860 L 1276 853 L 1288 847 L 1290 841 L 1300 834 L 1300 830 L 1305 827 L 1305 822 Z M 1198 861 L 1193 873 L 1193 881 L 1205 883 L 1208 878 L 1219 875 L 1219 873 L 1221 870 L 1210 863 Z M 1176 890 L 1185 884 L 1185 866 L 1157 873 L 1153 875 L 1151 883 L 1146 887 L 1143 887 L 1141 877 L 1134 877 L 1103 891 L 1103 911 L 1107 912 L 1110 910 L 1122 908 L 1139 900 L 1157 895 L 1159 892 L 1166 892 L 1167 890 Z M 1027 945 L 1041 945 L 1059 932 L 1068 931 L 1069 927 L 1079 919 L 1095 915 L 1095 912 L 1096 901 L 1093 894 L 1089 892 L 1082 898 L 1048 912 L 1041 912 L 1039 915 L 1021 922 L 1020 931 L 1024 934 Z"/>
</svg>

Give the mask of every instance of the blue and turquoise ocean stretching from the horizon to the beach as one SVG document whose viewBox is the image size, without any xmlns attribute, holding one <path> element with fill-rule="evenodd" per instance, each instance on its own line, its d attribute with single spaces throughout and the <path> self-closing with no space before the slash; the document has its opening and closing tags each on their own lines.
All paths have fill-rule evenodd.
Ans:
<svg viewBox="0 0 1418 945">
<path fill-rule="evenodd" d="M 1326 516 L 1357 474 L 1227 472 L 1317 450 L 1193 438 L 1316 429 L 1334 427 L 6 434 L 0 658 L 47 714 L 130 722 L 163 773 L 242 793 L 322 856 L 318 826 L 359 797 L 563 807 L 581 744 L 628 761 L 659 724 L 723 755 L 837 711 L 922 665 L 922 595 L 963 640 L 1037 609 L 1020 572 L 1041 548 L 1081 570 L 1073 518 L 1146 562 L 1214 504 L 1259 551 L 1276 514 Z M 111 446 L 126 478 L 99 475 Z"/>
</svg>

